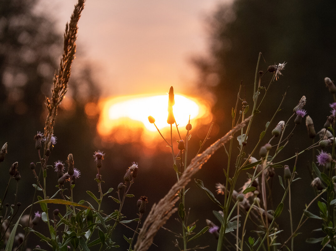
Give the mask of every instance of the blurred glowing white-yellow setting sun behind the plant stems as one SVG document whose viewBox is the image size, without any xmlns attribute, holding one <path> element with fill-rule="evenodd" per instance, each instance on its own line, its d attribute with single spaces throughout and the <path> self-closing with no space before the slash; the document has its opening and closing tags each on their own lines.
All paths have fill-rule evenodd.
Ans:
<svg viewBox="0 0 336 251">
<path fill-rule="evenodd" d="M 156 128 L 149 123 L 148 116 L 155 118 L 160 130 L 170 128 L 167 123 L 168 95 L 141 95 L 108 98 L 101 102 L 101 114 L 97 130 L 101 136 L 110 135 L 116 128 L 142 129 L 153 134 Z M 186 126 L 189 116 L 192 123 L 203 118 L 203 123 L 211 120 L 209 104 L 204 100 L 175 94 L 173 112 L 180 128 Z M 202 124 L 203 124 L 202 123 Z M 195 124 L 193 124 L 194 126 Z"/>
</svg>

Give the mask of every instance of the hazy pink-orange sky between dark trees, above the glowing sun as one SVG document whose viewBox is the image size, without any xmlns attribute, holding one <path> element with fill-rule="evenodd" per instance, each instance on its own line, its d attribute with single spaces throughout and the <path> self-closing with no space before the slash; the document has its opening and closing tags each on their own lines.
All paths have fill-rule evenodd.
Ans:
<svg viewBox="0 0 336 251">
<path fill-rule="evenodd" d="M 39 10 L 50 12 L 62 32 L 76 2 L 41 0 Z M 171 85 L 187 92 L 195 77 L 188 58 L 205 53 L 204 16 L 218 2 L 87 0 L 74 67 L 93 61 L 105 96 L 168 92 Z"/>
</svg>

